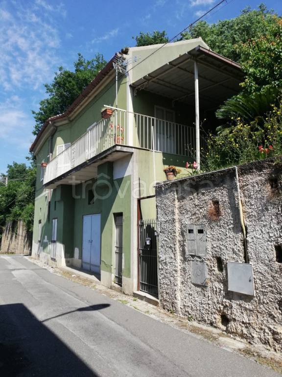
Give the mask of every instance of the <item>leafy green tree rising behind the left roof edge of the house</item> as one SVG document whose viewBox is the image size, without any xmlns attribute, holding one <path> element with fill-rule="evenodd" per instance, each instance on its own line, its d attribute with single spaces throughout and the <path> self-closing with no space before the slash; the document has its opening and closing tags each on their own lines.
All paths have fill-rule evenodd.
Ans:
<svg viewBox="0 0 282 377">
<path fill-rule="evenodd" d="M 45 84 L 48 97 L 40 102 L 38 111 L 32 111 L 36 122 L 33 135 L 39 133 L 49 117 L 66 111 L 105 64 L 106 60 L 102 54 L 96 54 L 91 60 L 86 60 L 82 54 L 78 54 L 77 60 L 73 63 L 74 72 L 59 67 L 54 80 L 50 84 Z"/>
</svg>

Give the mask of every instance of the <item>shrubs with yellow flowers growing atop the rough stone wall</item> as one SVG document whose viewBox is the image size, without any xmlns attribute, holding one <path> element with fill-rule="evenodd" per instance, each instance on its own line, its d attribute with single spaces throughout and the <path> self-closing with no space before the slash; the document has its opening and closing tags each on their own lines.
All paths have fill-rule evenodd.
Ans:
<svg viewBox="0 0 282 377">
<path fill-rule="evenodd" d="M 204 171 L 282 155 L 282 102 L 272 106 L 259 127 L 240 117 L 233 122 L 229 133 L 210 134 L 201 165 Z"/>
</svg>

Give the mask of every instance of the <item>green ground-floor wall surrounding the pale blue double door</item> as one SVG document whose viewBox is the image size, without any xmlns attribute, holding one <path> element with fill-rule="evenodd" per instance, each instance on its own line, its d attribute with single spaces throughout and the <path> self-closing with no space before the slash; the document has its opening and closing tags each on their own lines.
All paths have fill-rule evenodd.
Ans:
<svg viewBox="0 0 282 377">
<path fill-rule="evenodd" d="M 107 162 L 99 166 L 99 174 L 111 175 L 112 164 Z M 103 177 L 104 180 L 104 177 Z M 73 250 L 79 249 L 82 256 L 82 225 L 83 215 L 101 214 L 101 269 L 114 272 L 114 214 L 123 214 L 123 276 L 130 277 L 130 223 L 131 223 L 131 177 L 126 176 L 117 180 L 112 178 L 108 183 L 99 180 L 88 181 L 76 187 L 74 200 Z M 94 204 L 88 204 L 88 190 L 94 189 Z M 118 192 L 122 193 L 121 197 Z"/>
</svg>

